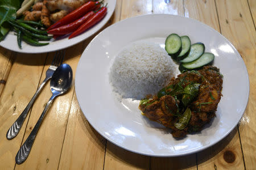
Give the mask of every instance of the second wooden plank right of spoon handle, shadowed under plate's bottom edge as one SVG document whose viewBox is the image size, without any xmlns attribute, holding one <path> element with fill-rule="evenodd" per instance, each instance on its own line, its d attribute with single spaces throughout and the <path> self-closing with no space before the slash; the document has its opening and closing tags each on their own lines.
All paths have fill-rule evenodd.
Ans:
<svg viewBox="0 0 256 170">
<path fill-rule="evenodd" d="M 115 146 L 111 142 L 106 145 L 104 169 L 150 169 L 150 157 L 135 154 Z"/>
</svg>

